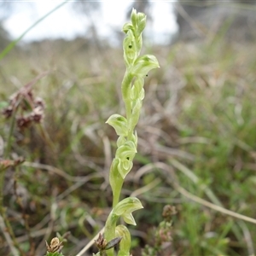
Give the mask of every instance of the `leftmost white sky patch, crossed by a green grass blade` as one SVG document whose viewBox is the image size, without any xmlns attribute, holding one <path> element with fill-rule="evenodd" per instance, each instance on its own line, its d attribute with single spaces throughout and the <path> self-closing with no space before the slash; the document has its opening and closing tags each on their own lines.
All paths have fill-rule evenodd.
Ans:
<svg viewBox="0 0 256 256">
<path fill-rule="evenodd" d="M 24 3 L 16 3 L 15 13 L 5 21 L 4 26 L 12 38 L 18 38 L 29 26 L 54 9 L 58 2 L 41 2 L 31 4 L 31 8 Z M 24 7 L 22 8 L 22 5 Z M 19 7 L 18 7 L 19 6 Z M 43 38 L 72 39 L 77 35 L 84 35 L 86 20 L 82 15 L 75 15 L 71 3 L 66 3 L 60 9 L 49 15 L 45 20 L 33 27 L 26 34 L 23 41 L 40 40 Z"/>
</svg>

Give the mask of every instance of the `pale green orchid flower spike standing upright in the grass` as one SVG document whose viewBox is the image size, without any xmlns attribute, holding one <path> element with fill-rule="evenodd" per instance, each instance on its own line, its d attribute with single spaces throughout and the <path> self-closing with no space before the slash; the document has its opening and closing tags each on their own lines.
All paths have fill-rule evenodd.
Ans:
<svg viewBox="0 0 256 256">
<path fill-rule="evenodd" d="M 131 247 L 130 232 L 124 225 L 117 225 L 119 218 L 122 217 L 126 224 L 136 225 L 132 212 L 143 208 L 142 203 L 136 197 L 128 197 L 122 201 L 119 201 L 119 197 L 125 177 L 131 171 L 133 159 L 137 153 L 135 127 L 143 106 L 144 79 L 151 69 L 160 67 L 154 55 L 140 56 L 146 20 L 146 15 L 132 9 L 131 22 L 123 26 L 123 32 L 126 35 L 123 43 L 126 71 L 121 90 L 125 102 L 125 117 L 114 113 L 106 122 L 113 126 L 119 138 L 109 173 L 109 183 L 113 191 L 113 210 L 109 213 L 105 225 L 104 239 L 109 242 L 116 237 L 122 237 L 118 256 L 129 256 Z M 116 255 L 112 247 L 105 253 L 108 256 Z"/>
</svg>

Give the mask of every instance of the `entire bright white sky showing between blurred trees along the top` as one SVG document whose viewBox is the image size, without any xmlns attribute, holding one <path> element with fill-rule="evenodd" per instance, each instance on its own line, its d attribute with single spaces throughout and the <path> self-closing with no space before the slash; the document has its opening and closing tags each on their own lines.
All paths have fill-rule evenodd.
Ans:
<svg viewBox="0 0 256 256">
<path fill-rule="evenodd" d="M 54 9 L 61 1 L 34 1 L 32 3 L 15 3 L 15 12 L 4 26 L 12 38 L 18 38 L 34 22 Z M 86 36 L 91 22 L 97 33 L 103 38 L 113 38 L 113 29 L 121 31 L 126 20 L 127 8 L 132 1 L 102 1 L 100 9 L 88 17 L 73 9 L 73 3 L 66 3 L 49 15 L 22 39 L 28 42 L 44 38 L 67 38 Z M 152 2 L 153 24 L 148 22 L 146 35 L 156 44 L 169 44 L 171 33 L 177 32 L 175 16 L 170 2 Z"/>
</svg>

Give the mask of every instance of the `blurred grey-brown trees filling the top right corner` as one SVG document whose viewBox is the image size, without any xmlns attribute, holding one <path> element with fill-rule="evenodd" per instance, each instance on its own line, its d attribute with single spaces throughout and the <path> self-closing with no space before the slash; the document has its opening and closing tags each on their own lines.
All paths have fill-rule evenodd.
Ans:
<svg viewBox="0 0 256 256">
<path fill-rule="evenodd" d="M 203 39 L 219 33 L 224 24 L 228 26 L 225 37 L 234 40 L 255 40 L 256 1 L 177 1 L 175 9 L 179 38 L 183 40 Z"/>
</svg>

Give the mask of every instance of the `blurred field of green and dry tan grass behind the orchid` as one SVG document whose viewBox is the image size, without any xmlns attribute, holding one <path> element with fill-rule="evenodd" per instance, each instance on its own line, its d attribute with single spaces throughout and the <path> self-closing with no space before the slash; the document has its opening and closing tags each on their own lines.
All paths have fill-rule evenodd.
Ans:
<svg viewBox="0 0 256 256">
<path fill-rule="evenodd" d="M 194 44 L 150 49 L 161 68 L 146 79 L 138 154 L 123 190 L 124 197 L 136 193 L 143 201 L 144 210 L 135 213 L 137 228 L 131 228 L 137 236 L 134 255 L 147 244 L 154 247 L 150 234 L 160 226 L 166 204 L 177 207 L 168 253 L 254 254 L 253 224 L 188 201 L 173 186 L 177 182 L 207 201 L 212 197 L 205 188 L 210 189 L 224 207 L 256 218 L 256 47 L 224 38 L 225 30 Z M 105 121 L 124 113 L 119 87 L 125 64 L 121 49 L 104 45 L 83 38 L 45 40 L 15 49 L 1 61 L 2 109 L 9 96 L 48 72 L 32 86 L 33 95 L 44 100 L 44 122 L 26 130 L 15 127 L 11 157 L 26 162 L 9 168 L 4 186 L 9 221 L 27 254 L 34 247 L 35 255 L 44 255 L 44 240 L 70 231 L 63 254 L 75 255 L 108 216 L 116 136 Z M 0 126 L 2 154 L 10 120 L 1 115 Z M 187 171 L 172 166 L 172 160 Z M 9 255 L 2 234 L 0 245 L 0 254 Z"/>
</svg>

